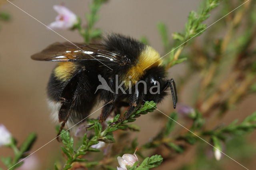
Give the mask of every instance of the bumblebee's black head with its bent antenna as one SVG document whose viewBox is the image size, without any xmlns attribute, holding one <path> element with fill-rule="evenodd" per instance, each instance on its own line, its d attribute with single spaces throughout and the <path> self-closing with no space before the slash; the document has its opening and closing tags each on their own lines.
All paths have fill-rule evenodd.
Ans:
<svg viewBox="0 0 256 170">
<path fill-rule="evenodd" d="M 177 102 L 175 84 L 173 79 L 167 80 L 166 71 L 163 66 L 148 69 L 143 80 L 147 85 L 147 93 L 144 96 L 144 101 L 154 101 L 159 103 L 168 94 L 167 90 L 169 90 L 168 87 L 170 86 L 175 109 Z M 172 83 L 174 86 L 172 86 Z"/>
</svg>

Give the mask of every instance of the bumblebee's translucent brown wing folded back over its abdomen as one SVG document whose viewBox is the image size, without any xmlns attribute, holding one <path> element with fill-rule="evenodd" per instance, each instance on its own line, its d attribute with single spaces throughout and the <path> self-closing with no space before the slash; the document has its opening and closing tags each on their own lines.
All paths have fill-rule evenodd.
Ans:
<svg viewBox="0 0 256 170">
<path fill-rule="evenodd" d="M 125 65 L 129 62 L 126 56 L 112 53 L 101 44 L 74 44 L 70 42 L 56 42 L 46 47 L 43 51 L 32 55 L 31 58 L 40 61 L 58 62 L 98 60 L 102 63 L 118 65 Z"/>
</svg>

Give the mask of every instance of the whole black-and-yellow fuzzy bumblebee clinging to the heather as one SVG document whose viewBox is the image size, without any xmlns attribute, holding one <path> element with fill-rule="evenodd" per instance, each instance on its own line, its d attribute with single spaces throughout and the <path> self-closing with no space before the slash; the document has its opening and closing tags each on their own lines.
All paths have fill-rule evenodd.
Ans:
<svg viewBox="0 0 256 170">
<path fill-rule="evenodd" d="M 128 119 L 145 101 L 159 103 L 167 95 L 167 87 L 176 107 L 175 83 L 166 78 L 159 53 L 132 38 L 111 34 L 98 44 L 57 42 L 31 58 L 59 62 L 47 92 L 54 119 L 62 123 L 60 131 L 65 124 L 72 127 L 85 119 L 99 101 L 104 102 L 100 122 L 114 109 L 128 107 L 112 125 Z"/>
</svg>

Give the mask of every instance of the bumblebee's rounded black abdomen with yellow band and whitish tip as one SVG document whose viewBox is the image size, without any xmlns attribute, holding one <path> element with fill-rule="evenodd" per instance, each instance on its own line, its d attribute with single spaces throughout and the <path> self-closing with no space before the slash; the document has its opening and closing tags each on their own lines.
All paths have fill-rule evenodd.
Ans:
<svg viewBox="0 0 256 170">
<path fill-rule="evenodd" d="M 84 67 L 84 63 L 58 63 L 48 82 L 48 100 L 54 105 L 54 113 L 59 111 L 64 99 L 72 105 L 69 119 L 72 123 L 84 119 L 96 103 L 97 72 Z"/>
</svg>

